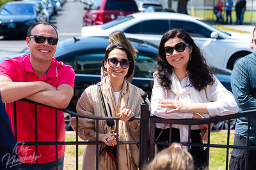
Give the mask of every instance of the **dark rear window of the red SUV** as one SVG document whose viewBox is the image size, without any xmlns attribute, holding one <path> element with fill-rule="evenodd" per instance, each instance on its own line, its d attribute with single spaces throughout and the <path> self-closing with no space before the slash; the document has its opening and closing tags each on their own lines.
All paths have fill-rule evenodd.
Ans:
<svg viewBox="0 0 256 170">
<path fill-rule="evenodd" d="M 105 10 L 138 11 L 135 1 L 106 1 Z"/>
</svg>

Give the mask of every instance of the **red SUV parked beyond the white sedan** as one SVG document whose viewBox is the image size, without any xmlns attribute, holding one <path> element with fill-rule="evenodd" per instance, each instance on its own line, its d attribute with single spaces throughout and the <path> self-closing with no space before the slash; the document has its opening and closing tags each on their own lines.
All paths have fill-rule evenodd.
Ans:
<svg viewBox="0 0 256 170">
<path fill-rule="evenodd" d="M 105 24 L 131 13 L 140 12 L 134 0 L 93 0 L 83 17 L 83 26 Z"/>
</svg>

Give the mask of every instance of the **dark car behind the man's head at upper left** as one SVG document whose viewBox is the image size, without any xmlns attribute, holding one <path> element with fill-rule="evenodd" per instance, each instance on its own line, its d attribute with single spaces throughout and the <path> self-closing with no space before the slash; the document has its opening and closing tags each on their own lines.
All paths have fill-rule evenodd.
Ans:
<svg viewBox="0 0 256 170">
<path fill-rule="evenodd" d="M 35 22 L 46 22 L 47 16 L 36 2 L 15 1 L 0 10 L 0 36 L 26 36 Z"/>
</svg>

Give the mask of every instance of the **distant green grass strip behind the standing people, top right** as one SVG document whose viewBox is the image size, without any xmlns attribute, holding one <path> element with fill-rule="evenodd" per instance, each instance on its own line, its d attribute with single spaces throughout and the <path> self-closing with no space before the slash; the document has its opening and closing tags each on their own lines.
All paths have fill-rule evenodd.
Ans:
<svg viewBox="0 0 256 170">
<path fill-rule="evenodd" d="M 193 16 L 192 10 L 188 9 L 188 14 Z M 203 17 L 207 20 L 216 20 L 216 16 L 213 13 L 213 10 L 194 10 L 194 17 Z M 226 12 L 222 12 L 223 18 L 226 20 Z M 256 22 L 256 11 L 245 11 L 244 12 L 244 23 L 251 23 L 251 15 L 252 22 Z M 228 18 L 229 19 L 229 18 Z M 232 22 L 236 22 L 236 11 L 232 11 Z"/>
</svg>

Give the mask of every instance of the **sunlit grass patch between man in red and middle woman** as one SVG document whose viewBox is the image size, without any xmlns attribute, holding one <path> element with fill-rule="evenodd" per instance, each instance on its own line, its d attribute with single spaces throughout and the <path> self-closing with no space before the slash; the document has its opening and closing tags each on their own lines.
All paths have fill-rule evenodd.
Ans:
<svg viewBox="0 0 256 170">
<path fill-rule="evenodd" d="M 65 141 L 76 141 L 76 135 L 67 134 L 65 136 Z M 78 141 L 83 141 L 78 138 Z M 82 155 L 84 153 L 84 148 L 86 145 L 78 145 L 78 155 Z M 66 145 L 65 146 L 65 155 L 71 155 L 76 157 L 76 145 Z"/>
</svg>

